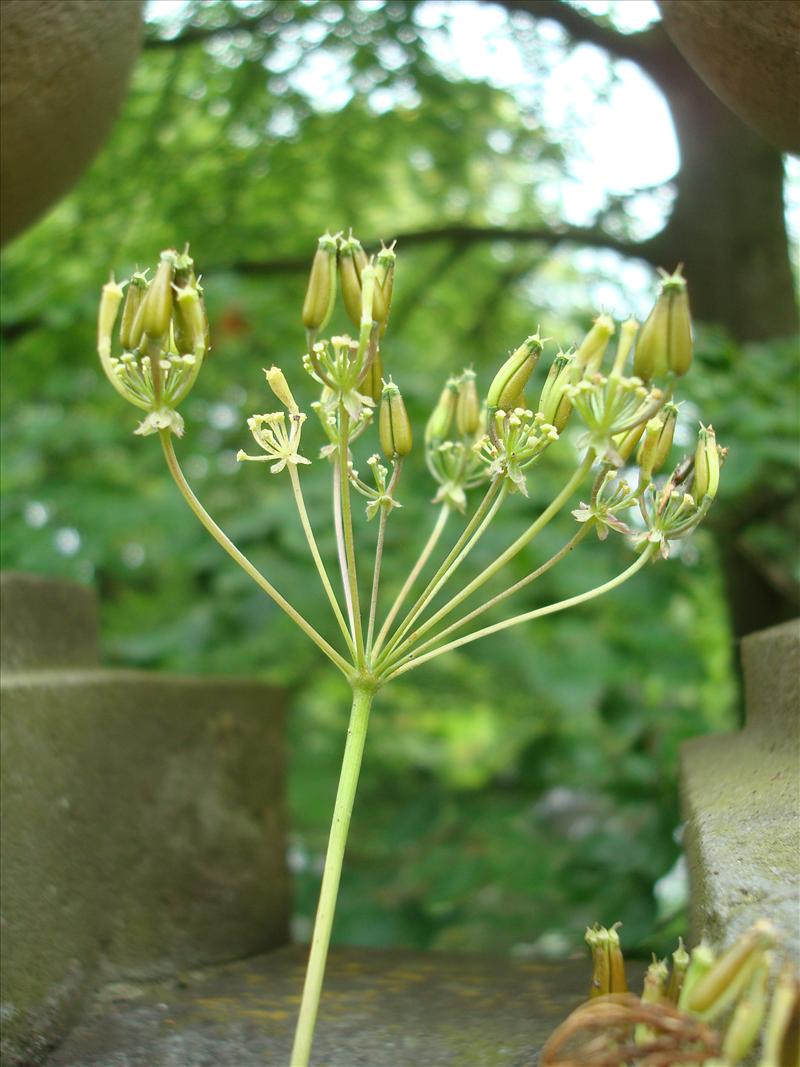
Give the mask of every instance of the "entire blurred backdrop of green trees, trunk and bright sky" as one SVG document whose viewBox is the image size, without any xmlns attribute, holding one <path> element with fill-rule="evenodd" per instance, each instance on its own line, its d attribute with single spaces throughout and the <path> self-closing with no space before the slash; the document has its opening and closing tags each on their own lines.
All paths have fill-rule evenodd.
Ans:
<svg viewBox="0 0 800 1067">
<path fill-rule="evenodd" d="M 679 443 L 702 413 L 730 447 L 713 521 L 608 599 L 381 695 L 334 935 L 558 956 L 586 924 L 624 918 L 627 945 L 659 949 L 683 928 L 681 743 L 736 724 L 735 636 L 797 610 L 798 381 L 783 162 L 691 81 L 657 17 L 630 0 L 151 4 L 111 140 L 4 253 L 2 564 L 95 586 L 109 663 L 290 687 L 299 937 L 347 694 L 192 519 L 157 443 L 131 435 L 135 414 L 94 357 L 99 285 L 192 242 L 213 352 L 179 452 L 222 526 L 335 639 L 288 487 L 235 461 L 246 416 L 265 408 L 262 366 L 281 363 L 311 399 L 299 309 L 317 235 L 399 238 L 384 359 L 420 437 L 448 373 L 473 364 L 485 387 L 540 322 L 566 346 L 599 305 L 641 315 L 655 266 L 686 261 L 701 321 Z M 687 117 L 701 105 L 714 120 L 702 136 Z M 388 527 L 387 588 L 432 521 L 420 452 Z M 509 504 L 473 568 L 549 499 L 573 456 L 570 440 L 548 452 L 531 499 Z M 329 468 L 306 469 L 332 558 Z M 365 558 L 373 537 L 362 524 Z M 621 538 L 587 542 L 519 610 L 629 559 Z"/>
</svg>

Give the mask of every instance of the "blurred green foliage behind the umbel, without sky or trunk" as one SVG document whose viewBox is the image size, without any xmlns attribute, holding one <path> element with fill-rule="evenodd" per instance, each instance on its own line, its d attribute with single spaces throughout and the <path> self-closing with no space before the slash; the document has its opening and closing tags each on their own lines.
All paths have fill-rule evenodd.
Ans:
<svg viewBox="0 0 800 1067">
<path fill-rule="evenodd" d="M 262 366 L 279 363 L 299 397 L 311 399 L 300 369 L 305 278 L 294 261 L 310 259 L 325 226 L 388 238 L 447 221 L 494 223 L 497 204 L 508 224 L 558 221 L 539 184 L 564 165 L 567 133 L 545 131 L 534 108 L 510 93 L 437 67 L 417 7 L 251 5 L 270 13 L 270 32 L 146 50 L 91 171 L 4 257 L 2 563 L 95 585 L 109 662 L 258 674 L 292 687 L 300 934 L 318 889 L 347 692 L 185 509 L 157 443 L 131 435 L 135 413 L 95 364 L 96 298 L 111 268 L 125 276 L 161 246 L 191 239 L 213 352 L 186 404 L 179 453 L 226 531 L 335 640 L 288 485 L 234 458 L 249 445 L 246 416 L 269 407 Z M 212 27 L 244 10 L 212 2 L 185 15 Z M 524 34 L 521 42 L 535 45 Z M 349 65 L 340 107 L 292 81 L 309 52 Z M 399 253 L 385 361 L 420 431 L 449 372 L 474 364 L 485 387 L 540 320 L 569 344 L 593 310 L 590 284 L 566 252 L 445 242 Z M 274 267 L 281 259 L 285 271 Z M 253 267 L 265 262 L 273 267 Z M 606 291 L 624 288 L 618 257 L 597 255 L 591 270 Z M 343 320 L 333 325 L 345 329 Z M 743 499 L 765 480 L 790 479 L 785 353 L 737 351 L 709 334 L 698 363 L 692 400 L 731 447 L 721 495 Z M 693 421 L 694 409 L 686 411 Z M 315 433 L 309 423 L 308 456 L 321 444 Z M 358 444 L 363 463 L 374 442 Z M 420 451 L 388 527 L 384 604 L 433 521 Z M 549 500 L 573 455 L 570 440 L 548 452 L 531 499 L 510 501 L 470 574 Z M 327 464 L 302 474 L 332 560 Z M 512 576 L 559 547 L 571 523 L 567 514 L 549 527 Z M 755 522 L 751 535 L 754 551 L 787 554 L 774 545 L 774 524 Z M 374 526 L 361 523 L 365 559 L 373 537 Z M 518 609 L 588 588 L 629 559 L 622 539 L 587 542 L 526 590 Z M 335 937 L 560 954 L 579 944 L 587 923 L 622 917 L 627 945 L 659 946 L 681 923 L 654 895 L 679 853 L 678 748 L 730 727 L 734 699 L 707 532 L 606 600 L 394 684 L 373 712 Z"/>
</svg>

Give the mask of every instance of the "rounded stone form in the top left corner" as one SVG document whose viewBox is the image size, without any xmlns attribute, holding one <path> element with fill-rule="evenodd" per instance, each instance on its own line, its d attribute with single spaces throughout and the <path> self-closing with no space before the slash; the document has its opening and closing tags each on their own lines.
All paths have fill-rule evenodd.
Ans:
<svg viewBox="0 0 800 1067">
<path fill-rule="evenodd" d="M 106 140 L 141 25 L 141 0 L 3 0 L 3 242 L 62 196 Z"/>
</svg>

